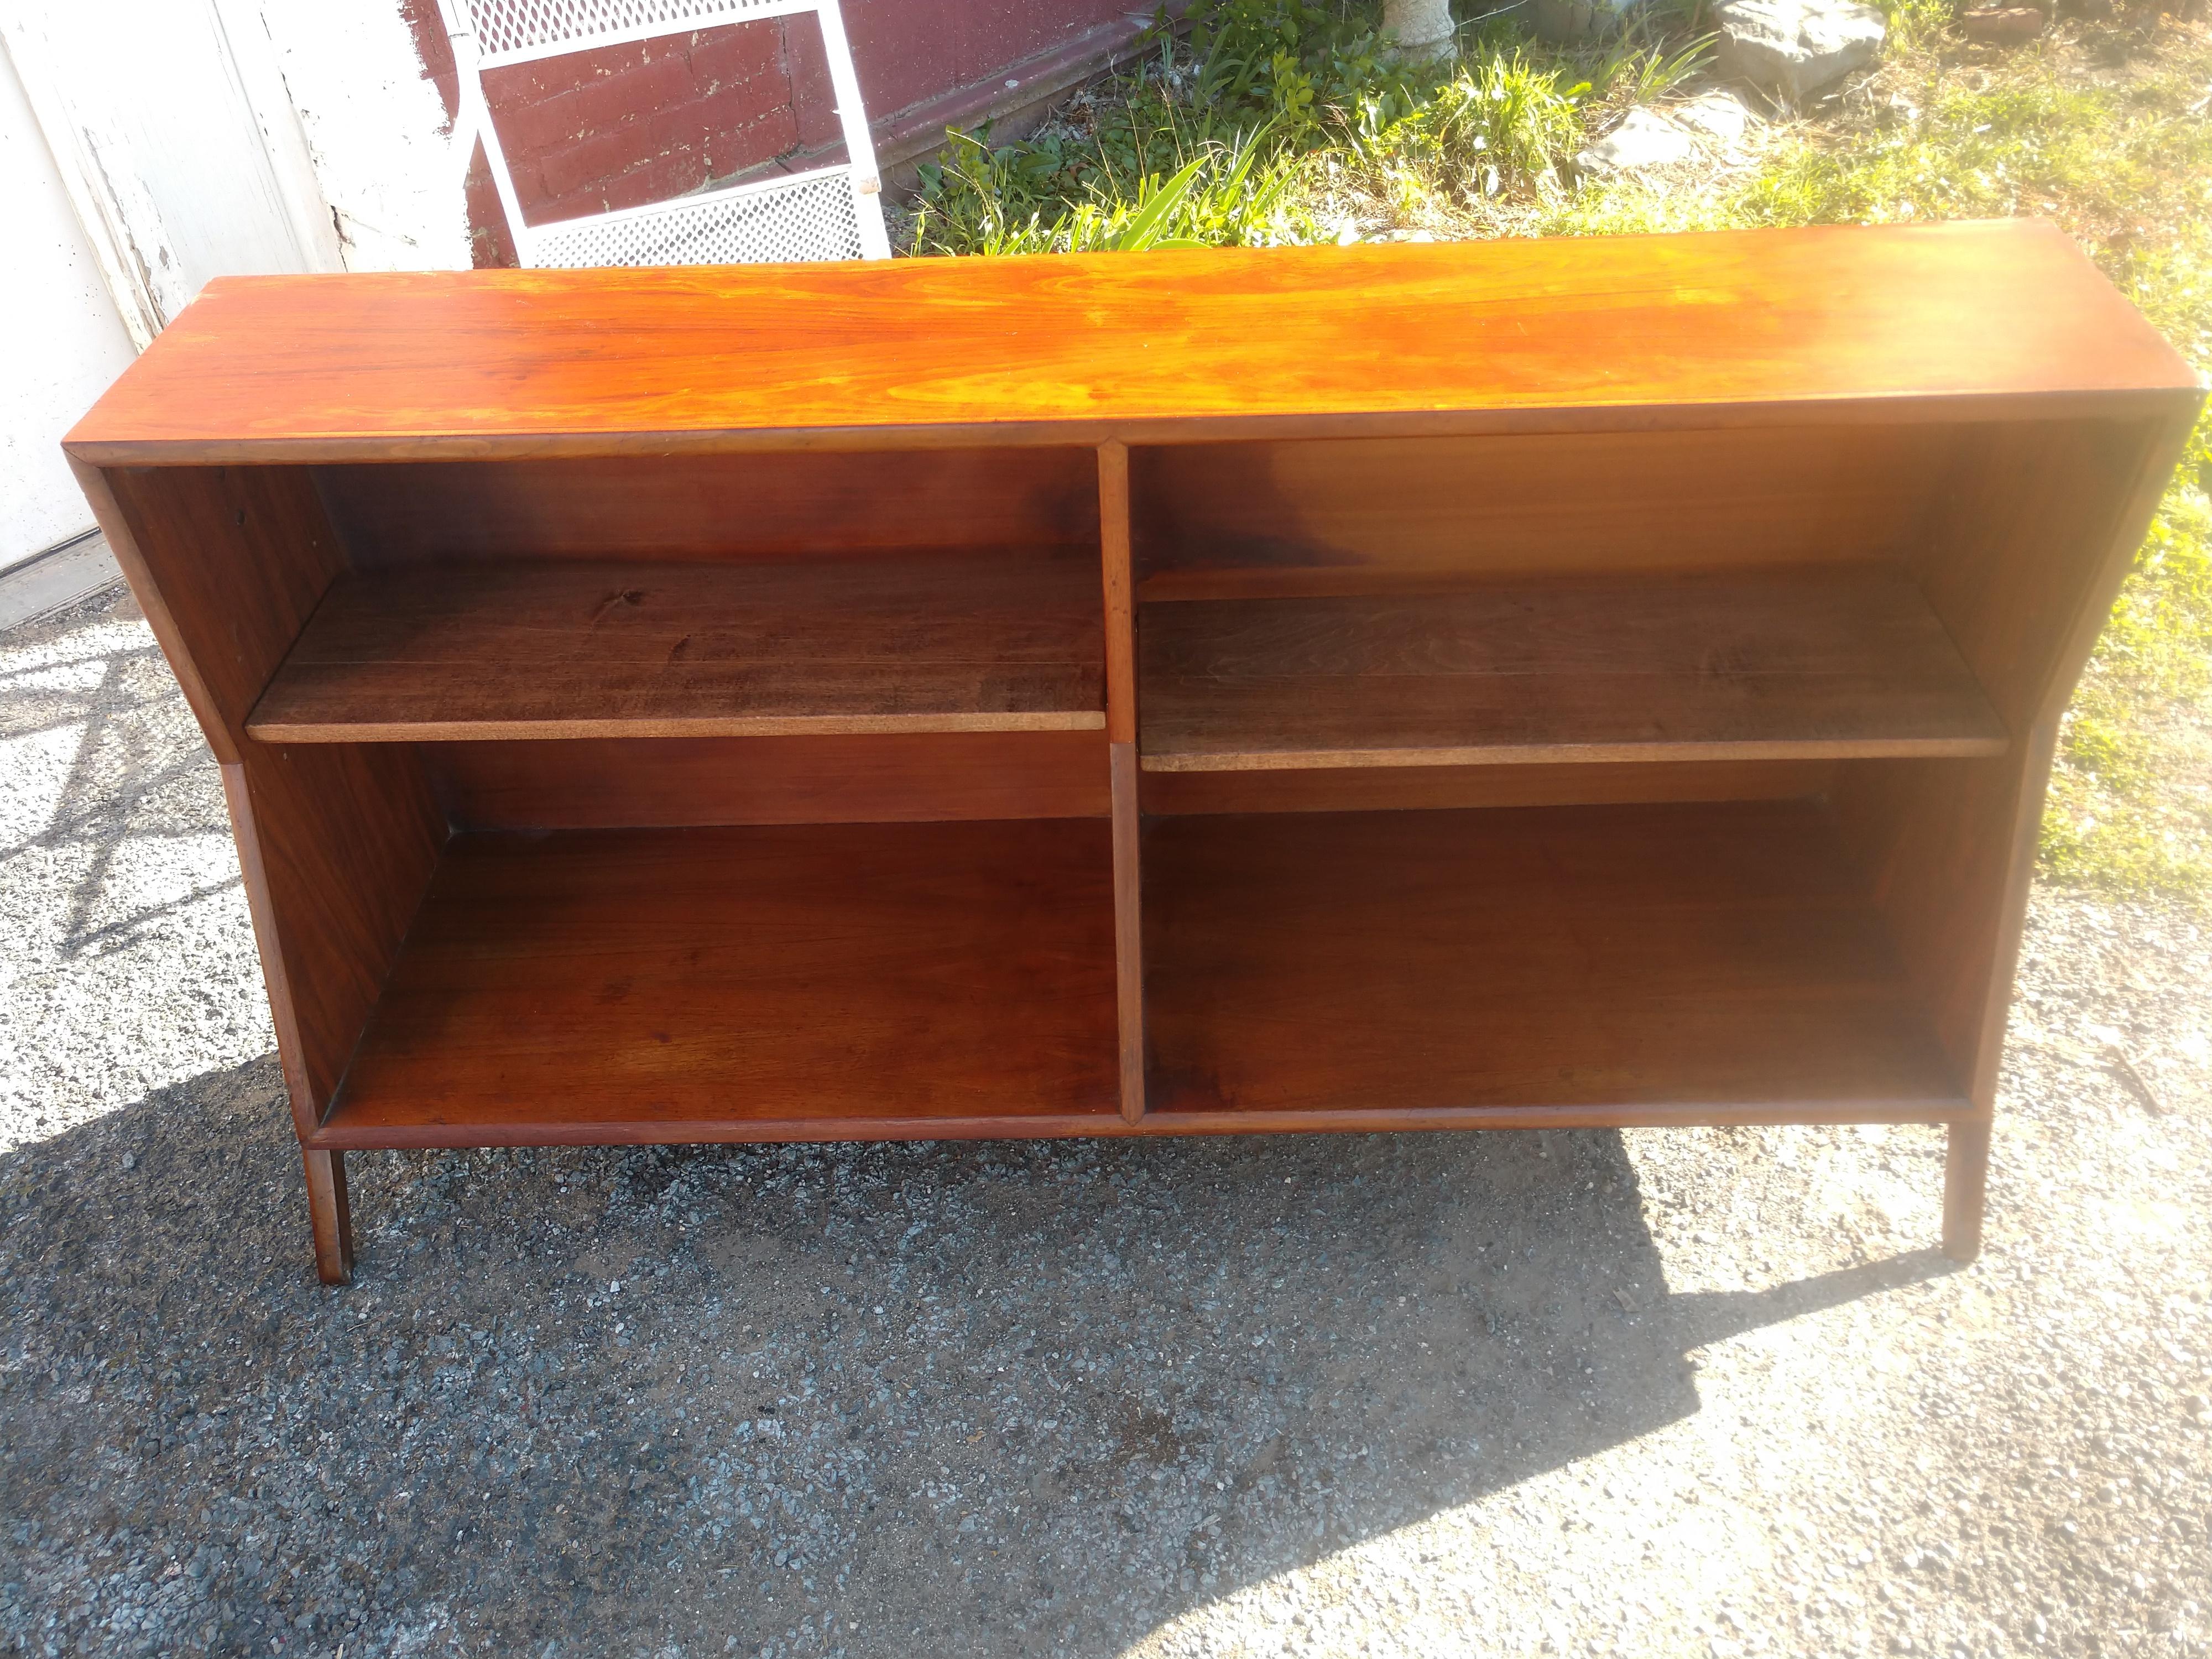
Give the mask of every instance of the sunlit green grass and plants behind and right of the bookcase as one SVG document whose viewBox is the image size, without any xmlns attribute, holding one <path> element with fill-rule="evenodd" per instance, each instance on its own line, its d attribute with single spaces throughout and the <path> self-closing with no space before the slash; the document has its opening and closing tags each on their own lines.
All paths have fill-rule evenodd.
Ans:
<svg viewBox="0 0 2212 1659">
<path fill-rule="evenodd" d="M 1188 40 L 1022 144 L 956 137 L 916 252 L 1619 234 L 2044 215 L 2212 372 L 2212 35 L 2108 27 L 1975 55 L 1951 0 L 1891 0 L 1871 95 L 1661 184 L 1571 157 L 1663 102 L 1708 42 L 1644 9 L 1606 49 L 1462 29 L 1447 75 L 1389 58 L 1367 0 L 1201 0 Z M 2062 730 L 2044 876 L 2212 900 L 2212 422 L 2201 425 Z"/>
</svg>

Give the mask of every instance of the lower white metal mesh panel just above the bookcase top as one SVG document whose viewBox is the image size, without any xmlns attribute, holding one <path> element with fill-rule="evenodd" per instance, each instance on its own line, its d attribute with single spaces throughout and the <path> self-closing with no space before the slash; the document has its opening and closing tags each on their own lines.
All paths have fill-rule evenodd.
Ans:
<svg viewBox="0 0 2212 1659">
<path fill-rule="evenodd" d="M 535 265 L 765 265 L 860 259 L 852 179 L 830 173 L 779 190 L 677 197 L 657 208 L 531 232 Z"/>
</svg>

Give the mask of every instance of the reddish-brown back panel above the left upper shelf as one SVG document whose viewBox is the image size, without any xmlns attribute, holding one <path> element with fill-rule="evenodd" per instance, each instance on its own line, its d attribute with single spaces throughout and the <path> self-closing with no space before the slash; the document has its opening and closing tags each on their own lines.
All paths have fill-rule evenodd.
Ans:
<svg viewBox="0 0 2212 1659">
<path fill-rule="evenodd" d="M 356 564 L 1097 546 L 1091 449 L 321 467 Z"/>
</svg>

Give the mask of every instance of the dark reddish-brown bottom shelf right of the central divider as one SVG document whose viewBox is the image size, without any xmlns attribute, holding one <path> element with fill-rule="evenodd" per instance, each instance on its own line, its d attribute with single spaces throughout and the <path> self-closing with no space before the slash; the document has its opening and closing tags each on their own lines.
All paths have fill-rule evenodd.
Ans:
<svg viewBox="0 0 2212 1659">
<path fill-rule="evenodd" d="M 1820 805 L 1164 818 L 1148 1128 L 1969 1115 Z"/>
</svg>

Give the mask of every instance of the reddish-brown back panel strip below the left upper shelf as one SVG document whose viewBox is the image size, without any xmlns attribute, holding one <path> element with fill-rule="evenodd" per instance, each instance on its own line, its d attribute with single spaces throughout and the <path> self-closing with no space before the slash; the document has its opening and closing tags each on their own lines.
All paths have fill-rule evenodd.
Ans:
<svg viewBox="0 0 2212 1659">
<path fill-rule="evenodd" d="M 434 743 L 460 830 L 1104 818 L 1106 732 Z"/>
</svg>

